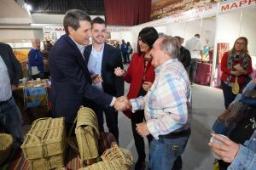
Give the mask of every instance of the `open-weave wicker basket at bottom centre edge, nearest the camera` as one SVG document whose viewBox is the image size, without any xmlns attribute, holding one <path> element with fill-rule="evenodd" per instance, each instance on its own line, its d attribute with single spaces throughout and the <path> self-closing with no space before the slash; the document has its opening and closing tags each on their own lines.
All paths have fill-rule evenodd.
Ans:
<svg viewBox="0 0 256 170">
<path fill-rule="evenodd" d="M 130 170 L 132 168 L 131 152 L 119 148 L 117 144 L 113 144 L 101 157 L 102 161 L 88 167 L 82 167 L 79 170 Z"/>
</svg>

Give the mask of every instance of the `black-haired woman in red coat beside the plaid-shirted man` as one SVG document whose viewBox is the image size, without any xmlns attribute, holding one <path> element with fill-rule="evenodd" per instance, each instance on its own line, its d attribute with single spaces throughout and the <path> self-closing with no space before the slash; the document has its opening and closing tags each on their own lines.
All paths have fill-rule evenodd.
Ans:
<svg viewBox="0 0 256 170">
<path fill-rule="evenodd" d="M 154 67 L 151 65 L 152 58 L 149 52 L 158 37 L 158 32 L 153 27 L 143 28 L 138 35 L 138 52 L 132 55 L 128 70 L 124 71 L 117 68 L 114 71 L 116 76 L 122 76 L 125 82 L 130 83 L 129 92 L 127 94 L 128 99 L 144 96 L 154 82 Z M 136 113 L 132 114 L 131 111 L 124 111 L 124 113 L 131 118 L 131 128 L 138 154 L 135 169 L 142 169 L 145 165 L 146 158 L 145 146 L 143 137 L 136 131 L 136 124 L 143 122 L 144 110 L 136 111 Z M 148 144 L 150 144 L 152 136 L 148 135 L 147 138 Z"/>
</svg>

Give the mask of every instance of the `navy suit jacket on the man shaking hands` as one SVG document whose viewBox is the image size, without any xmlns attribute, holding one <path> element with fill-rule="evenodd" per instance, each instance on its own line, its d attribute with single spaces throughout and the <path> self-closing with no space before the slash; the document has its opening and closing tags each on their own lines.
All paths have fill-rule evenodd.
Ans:
<svg viewBox="0 0 256 170">
<path fill-rule="evenodd" d="M 108 107 L 113 99 L 101 90 L 91 86 L 90 73 L 84 58 L 73 40 L 63 35 L 49 52 L 51 74 L 50 100 L 53 116 L 64 116 L 72 123 L 84 99 Z"/>
</svg>

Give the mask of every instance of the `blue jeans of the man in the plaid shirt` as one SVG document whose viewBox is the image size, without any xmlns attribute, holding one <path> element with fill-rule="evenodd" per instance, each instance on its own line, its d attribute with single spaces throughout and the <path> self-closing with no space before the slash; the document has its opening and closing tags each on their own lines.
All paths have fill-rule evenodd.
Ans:
<svg viewBox="0 0 256 170">
<path fill-rule="evenodd" d="M 173 139 L 160 137 L 153 139 L 149 150 L 150 170 L 172 170 L 174 161 L 183 154 L 185 146 L 189 140 L 189 135 Z"/>
</svg>

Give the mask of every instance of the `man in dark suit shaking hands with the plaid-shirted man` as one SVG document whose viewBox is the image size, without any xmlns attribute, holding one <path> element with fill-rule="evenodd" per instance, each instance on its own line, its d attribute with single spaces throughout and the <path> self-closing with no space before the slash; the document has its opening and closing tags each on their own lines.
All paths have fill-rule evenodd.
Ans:
<svg viewBox="0 0 256 170">
<path fill-rule="evenodd" d="M 67 130 L 84 99 L 105 108 L 114 106 L 117 110 L 125 105 L 122 97 L 116 99 L 91 85 L 90 72 L 84 60 L 84 42 L 91 36 L 90 21 L 90 16 L 84 11 L 67 11 L 63 20 L 66 35 L 55 42 L 49 53 L 53 116 L 64 116 Z"/>
</svg>

